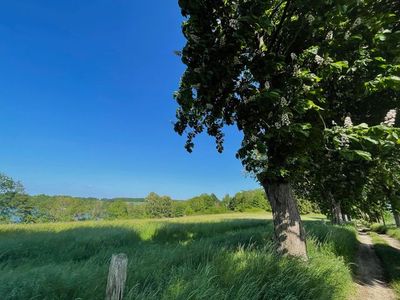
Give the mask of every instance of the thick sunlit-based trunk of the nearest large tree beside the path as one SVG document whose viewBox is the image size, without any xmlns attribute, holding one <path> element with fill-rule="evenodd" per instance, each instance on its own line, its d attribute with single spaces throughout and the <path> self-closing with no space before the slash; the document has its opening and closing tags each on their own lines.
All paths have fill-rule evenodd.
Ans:
<svg viewBox="0 0 400 300">
<path fill-rule="evenodd" d="M 278 251 L 307 260 L 306 237 L 289 183 L 263 184 L 271 203 Z"/>
</svg>

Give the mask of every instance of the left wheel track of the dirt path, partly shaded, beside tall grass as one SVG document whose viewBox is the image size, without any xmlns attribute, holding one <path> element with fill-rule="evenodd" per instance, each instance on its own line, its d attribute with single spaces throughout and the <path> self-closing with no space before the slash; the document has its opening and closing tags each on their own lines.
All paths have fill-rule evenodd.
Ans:
<svg viewBox="0 0 400 300">
<path fill-rule="evenodd" d="M 396 296 L 384 281 L 383 270 L 375 254 L 371 237 L 359 233 L 360 248 L 357 257 L 357 295 L 354 300 L 395 300 Z"/>
</svg>

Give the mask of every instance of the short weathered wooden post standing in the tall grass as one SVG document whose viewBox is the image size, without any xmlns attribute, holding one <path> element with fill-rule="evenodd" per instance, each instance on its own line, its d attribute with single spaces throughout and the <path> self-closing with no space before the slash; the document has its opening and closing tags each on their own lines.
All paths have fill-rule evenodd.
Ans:
<svg viewBox="0 0 400 300">
<path fill-rule="evenodd" d="M 108 270 L 106 300 L 122 300 L 127 268 L 128 257 L 126 254 L 113 254 Z"/>
</svg>

